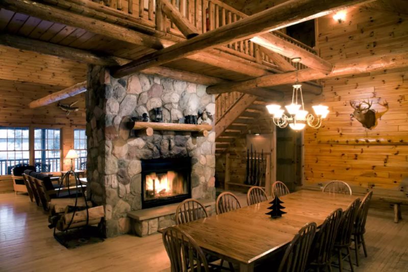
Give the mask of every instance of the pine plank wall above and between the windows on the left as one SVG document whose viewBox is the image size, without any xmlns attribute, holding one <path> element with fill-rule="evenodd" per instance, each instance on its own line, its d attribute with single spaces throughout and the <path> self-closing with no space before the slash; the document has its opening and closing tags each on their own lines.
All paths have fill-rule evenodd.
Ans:
<svg viewBox="0 0 408 272">
<path fill-rule="evenodd" d="M 85 129 L 85 94 L 70 97 L 62 103 L 78 101 L 80 111 L 68 116 L 56 103 L 30 109 L 29 103 L 85 80 L 86 65 L 44 56 L 32 52 L 21 52 L 0 46 L 0 126 L 24 126 L 32 128 L 61 128 L 62 159 L 73 148 L 73 130 Z M 83 74 L 83 75 L 82 75 Z M 63 170 L 69 161 L 62 160 Z M 0 192 L 13 190 L 10 176 L 0 176 Z"/>
</svg>

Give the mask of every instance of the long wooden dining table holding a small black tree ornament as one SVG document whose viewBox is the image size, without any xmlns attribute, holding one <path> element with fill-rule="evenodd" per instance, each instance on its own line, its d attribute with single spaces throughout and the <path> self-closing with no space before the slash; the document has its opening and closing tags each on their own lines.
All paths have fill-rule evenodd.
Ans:
<svg viewBox="0 0 408 272">
<path fill-rule="evenodd" d="M 286 212 L 282 217 L 266 214 L 272 205 L 268 200 L 177 227 L 190 234 L 203 251 L 239 263 L 240 271 L 253 271 L 257 263 L 284 251 L 302 226 L 316 222 L 319 227 L 331 212 L 346 210 L 358 198 L 300 190 L 279 197 Z M 280 260 L 274 261 L 279 265 Z"/>
</svg>

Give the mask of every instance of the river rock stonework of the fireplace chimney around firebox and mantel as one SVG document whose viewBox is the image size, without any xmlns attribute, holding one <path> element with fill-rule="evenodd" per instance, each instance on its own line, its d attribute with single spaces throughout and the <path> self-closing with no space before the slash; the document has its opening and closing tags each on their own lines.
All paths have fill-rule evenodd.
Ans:
<svg viewBox="0 0 408 272">
<path fill-rule="evenodd" d="M 206 86 L 142 73 L 115 79 L 93 65 L 87 81 L 88 193 L 105 206 L 108 237 L 129 232 L 126 213 L 141 209 L 141 159 L 191 157 L 192 197 L 215 199 L 214 131 L 197 138 L 160 131 L 135 136 L 129 126 L 131 117 L 157 107 L 167 122 L 203 109 L 214 116 L 215 96 L 206 93 Z"/>
</svg>

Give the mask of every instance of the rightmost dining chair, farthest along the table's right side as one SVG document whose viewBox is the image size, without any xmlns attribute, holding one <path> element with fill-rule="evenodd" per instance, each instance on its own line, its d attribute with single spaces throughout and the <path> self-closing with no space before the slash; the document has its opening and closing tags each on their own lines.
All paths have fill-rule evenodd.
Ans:
<svg viewBox="0 0 408 272">
<path fill-rule="evenodd" d="M 354 250 L 355 250 L 355 264 L 359 266 L 359 249 L 360 246 L 363 245 L 364 256 L 367 255 L 367 248 L 366 242 L 364 240 L 364 233 L 366 232 L 366 220 L 368 214 L 368 208 L 370 206 L 371 198 L 373 196 L 373 191 L 370 191 L 364 196 L 363 201 L 360 204 L 359 211 L 357 213 L 357 217 L 355 218 L 354 224 Z"/>
</svg>

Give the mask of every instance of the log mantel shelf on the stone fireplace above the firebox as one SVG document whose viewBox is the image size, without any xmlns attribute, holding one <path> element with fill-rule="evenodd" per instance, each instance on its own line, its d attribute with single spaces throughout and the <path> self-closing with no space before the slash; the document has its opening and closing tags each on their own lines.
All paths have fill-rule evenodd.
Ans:
<svg viewBox="0 0 408 272">
<path fill-rule="evenodd" d="M 179 131 L 192 132 L 195 137 L 207 137 L 208 132 L 213 129 L 212 125 L 193 125 L 188 123 L 159 123 L 159 122 L 134 122 L 133 129 L 137 132 L 145 133 L 147 136 L 153 135 L 153 131 Z"/>
</svg>

